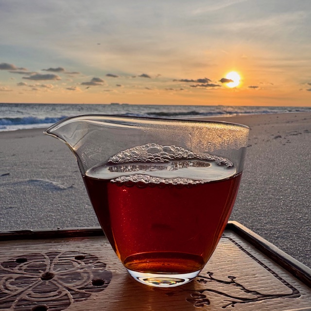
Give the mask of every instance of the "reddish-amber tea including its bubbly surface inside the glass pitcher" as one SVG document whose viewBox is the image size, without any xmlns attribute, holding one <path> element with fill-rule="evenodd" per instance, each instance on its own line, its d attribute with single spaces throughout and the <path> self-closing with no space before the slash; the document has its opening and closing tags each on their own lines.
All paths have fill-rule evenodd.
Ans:
<svg viewBox="0 0 311 311">
<path fill-rule="evenodd" d="M 240 179 L 225 158 L 156 144 L 125 150 L 84 176 L 98 220 L 124 266 L 151 274 L 204 267 L 225 229 Z"/>
</svg>

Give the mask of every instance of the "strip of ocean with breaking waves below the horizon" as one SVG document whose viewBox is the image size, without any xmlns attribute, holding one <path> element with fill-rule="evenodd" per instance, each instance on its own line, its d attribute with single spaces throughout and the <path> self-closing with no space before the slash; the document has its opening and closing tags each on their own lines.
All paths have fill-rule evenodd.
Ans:
<svg viewBox="0 0 311 311">
<path fill-rule="evenodd" d="M 64 118 L 87 114 L 190 119 L 304 111 L 311 111 L 311 107 L 136 105 L 118 103 L 0 104 L 0 131 L 45 128 Z"/>
</svg>

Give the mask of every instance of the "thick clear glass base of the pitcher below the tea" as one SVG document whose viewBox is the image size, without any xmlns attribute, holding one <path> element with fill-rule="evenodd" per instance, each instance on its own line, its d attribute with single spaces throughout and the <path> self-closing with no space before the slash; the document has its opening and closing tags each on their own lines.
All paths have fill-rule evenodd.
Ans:
<svg viewBox="0 0 311 311">
<path fill-rule="evenodd" d="M 126 269 L 130 276 L 135 278 L 138 282 L 155 287 L 175 287 L 190 282 L 196 277 L 201 270 L 184 273 L 184 274 L 154 274 L 154 273 L 142 273 Z"/>
</svg>

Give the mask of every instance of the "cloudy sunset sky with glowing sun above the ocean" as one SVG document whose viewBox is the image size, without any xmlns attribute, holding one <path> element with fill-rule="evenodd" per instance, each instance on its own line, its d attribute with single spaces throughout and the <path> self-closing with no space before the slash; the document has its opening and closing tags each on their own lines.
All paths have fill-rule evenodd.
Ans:
<svg viewBox="0 0 311 311">
<path fill-rule="evenodd" d="M 0 103 L 311 106 L 311 1 L 0 0 Z"/>
</svg>

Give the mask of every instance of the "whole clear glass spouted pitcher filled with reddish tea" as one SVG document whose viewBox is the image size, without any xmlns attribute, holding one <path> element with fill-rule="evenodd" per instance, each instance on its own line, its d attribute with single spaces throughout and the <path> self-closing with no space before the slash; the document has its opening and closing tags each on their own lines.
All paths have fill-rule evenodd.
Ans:
<svg viewBox="0 0 311 311">
<path fill-rule="evenodd" d="M 45 134 L 76 156 L 99 223 L 129 274 L 173 287 L 200 273 L 225 230 L 248 132 L 226 122 L 86 115 Z"/>
</svg>

